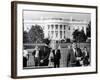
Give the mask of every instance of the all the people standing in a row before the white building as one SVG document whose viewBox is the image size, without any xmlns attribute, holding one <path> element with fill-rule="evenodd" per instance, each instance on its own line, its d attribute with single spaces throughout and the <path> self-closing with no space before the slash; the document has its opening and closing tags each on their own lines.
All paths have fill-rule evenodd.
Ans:
<svg viewBox="0 0 100 80">
<path fill-rule="evenodd" d="M 35 46 L 35 49 L 32 52 L 32 56 L 34 58 L 35 67 L 49 67 L 51 64 L 52 67 L 58 68 L 60 67 L 61 61 L 61 48 L 60 46 L 56 46 L 55 49 L 50 48 L 48 45 L 45 45 L 41 48 Z M 25 54 L 25 52 L 24 52 Z M 87 66 L 90 64 L 89 52 L 87 48 L 84 47 L 83 50 L 77 47 L 76 43 L 72 43 L 70 48 L 68 49 L 68 53 L 66 54 L 67 67 L 75 67 L 75 66 Z M 23 56 L 23 67 L 27 67 L 27 60 L 29 56 Z"/>
</svg>

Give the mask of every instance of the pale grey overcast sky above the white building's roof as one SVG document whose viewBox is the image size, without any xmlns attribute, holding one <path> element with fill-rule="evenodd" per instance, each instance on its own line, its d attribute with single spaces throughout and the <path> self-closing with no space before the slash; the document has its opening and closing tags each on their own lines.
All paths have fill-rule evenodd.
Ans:
<svg viewBox="0 0 100 80">
<path fill-rule="evenodd" d="M 24 11 L 24 20 L 34 20 L 41 17 L 52 18 L 73 18 L 78 20 L 90 21 L 91 14 L 89 13 L 75 13 L 75 12 L 50 12 L 50 11 Z"/>
</svg>

